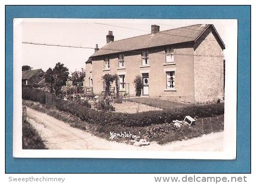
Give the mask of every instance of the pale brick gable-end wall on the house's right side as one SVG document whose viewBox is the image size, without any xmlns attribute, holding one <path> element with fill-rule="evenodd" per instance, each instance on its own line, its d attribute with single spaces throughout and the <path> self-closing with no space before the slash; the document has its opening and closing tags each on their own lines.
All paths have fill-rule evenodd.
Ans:
<svg viewBox="0 0 256 184">
<path fill-rule="evenodd" d="M 194 50 L 194 100 L 224 97 L 224 55 L 212 32 Z"/>
</svg>

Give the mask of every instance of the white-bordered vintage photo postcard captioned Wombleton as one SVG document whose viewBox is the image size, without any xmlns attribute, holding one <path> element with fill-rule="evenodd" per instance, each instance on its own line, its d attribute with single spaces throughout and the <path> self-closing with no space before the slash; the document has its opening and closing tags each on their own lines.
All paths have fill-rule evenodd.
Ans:
<svg viewBox="0 0 256 184">
<path fill-rule="evenodd" d="M 237 20 L 13 24 L 14 157 L 236 158 Z"/>
</svg>

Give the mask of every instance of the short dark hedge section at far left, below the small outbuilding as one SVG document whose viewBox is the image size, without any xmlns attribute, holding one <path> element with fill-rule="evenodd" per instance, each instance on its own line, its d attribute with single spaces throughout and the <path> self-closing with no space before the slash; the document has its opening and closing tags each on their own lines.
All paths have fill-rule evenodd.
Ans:
<svg viewBox="0 0 256 184">
<path fill-rule="evenodd" d="M 46 103 L 46 93 L 36 88 L 22 88 L 22 99 Z"/>
</svg>

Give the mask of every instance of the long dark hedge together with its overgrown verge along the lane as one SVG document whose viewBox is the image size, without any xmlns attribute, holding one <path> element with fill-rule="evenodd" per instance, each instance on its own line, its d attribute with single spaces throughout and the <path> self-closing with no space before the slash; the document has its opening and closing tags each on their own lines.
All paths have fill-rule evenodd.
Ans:
<svg viewBox="0 0 256 184">
<path fill-rule="evenodd" d="M 23 103 L 27 107 L 63 120 L 75 128 L 87 130 L 107 140 L 128 144 L 133 144 L 136 139 L 164 144 L 224 130 L 223 103 L 136 114 L 96 111 L 76 102 L 64 100 L 57 102 L 57 110 L 54 111 L 46 110 L 40 103 L 31 101 L 23 101 Z M 196 125 L 177 127 L 172 123 L 172 120 L 183 120 L 187 115 L 199 117 Z"/>
</svg>

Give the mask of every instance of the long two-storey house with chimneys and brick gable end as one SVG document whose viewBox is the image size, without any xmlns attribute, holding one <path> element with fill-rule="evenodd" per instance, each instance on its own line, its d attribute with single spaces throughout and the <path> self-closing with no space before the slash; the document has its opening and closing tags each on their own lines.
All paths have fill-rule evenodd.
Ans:
<svg viewBox="0 0 256 184">
<path fill-rule="evenodd" d="M 86 61 L 85 83 L 94 94 L 103 91 L 102 76 L 118 74 L 120 91 L 135 95 L 133 80 L 143 78 L 142 95 L 185 102 L 224 97 L 225 44 L 214 25 L 198 24 L 114 41 L 95 48 Z M 129 86 L 129 89 L 127 88 Z"/>
</svg>

